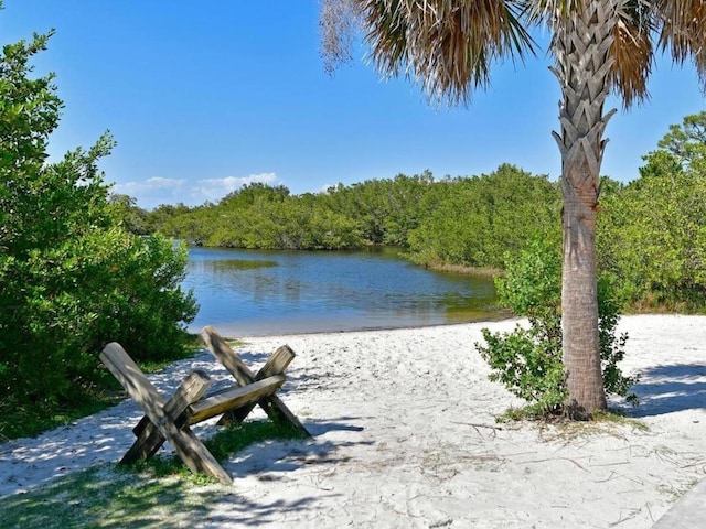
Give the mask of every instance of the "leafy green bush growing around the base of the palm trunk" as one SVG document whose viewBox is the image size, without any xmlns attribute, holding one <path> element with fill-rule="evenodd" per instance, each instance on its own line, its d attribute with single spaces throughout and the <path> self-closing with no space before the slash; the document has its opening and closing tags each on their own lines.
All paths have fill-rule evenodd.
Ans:
<svg viewBox="0 0 706 529">
<path fill-rule="evenodd" d="M 528 320 L 511 333 L 483 328 L 485 345 L 475 344 L 492 371 L 513 395 L 528 402 L 530 417 L 560 413 L 567 398 L 561 359 L 561 256 L 557 237 L 534 237 L 515 258 L 507 258 L 506 276 L 496 280 L 500 302 Z M 625 396 L 637 382 L 625 377 L 618 363 L 624 357 L 625 334 L 617 337 L 618 303 L 613 285 L 601 278 L 598 285 L 600 354 L 608 393 Z M 635 403 L 634 395 L 628 400 Z"/>
</svg>

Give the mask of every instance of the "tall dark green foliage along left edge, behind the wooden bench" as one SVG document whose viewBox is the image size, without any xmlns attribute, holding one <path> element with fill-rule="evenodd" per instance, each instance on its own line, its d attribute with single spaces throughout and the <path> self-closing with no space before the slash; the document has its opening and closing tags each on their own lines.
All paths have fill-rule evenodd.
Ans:
<svg viewBox="0 0 706 529">
<path fill-rule="evenodd" d="M 183 350 L 196 311 L 180 289 L 185 247 L 121 227 L 98 171 L 114 141 L 47 162 L 62 101 L 51 75 L 30 78 L 49 35 L 0 60 L 0 412 L 81 400 L 118 341 L 138 359 Z M 2 421 L 0 421 L 2 424 Z"/>
</svg>

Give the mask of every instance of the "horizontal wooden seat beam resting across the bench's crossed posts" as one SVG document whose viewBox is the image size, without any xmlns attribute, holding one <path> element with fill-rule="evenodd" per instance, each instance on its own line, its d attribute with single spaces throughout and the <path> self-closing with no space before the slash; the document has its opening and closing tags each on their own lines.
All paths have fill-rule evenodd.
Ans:
<svg viewBox="0 0 706 529">
<path fill-rule="evenodd" d="M 189 407 L 188 423 L 195 424 L 221 413 L 239 408 L 249 403 L 255 403 L 263 397 L 267 397 L 277 391 L 287 380 L 282 375 L 268 377 L 257 382 L 248 384 L 244 388 L 232 388 L 227 391 L 220 391 L 213 396 L 201 399 Z"/>
</svg>

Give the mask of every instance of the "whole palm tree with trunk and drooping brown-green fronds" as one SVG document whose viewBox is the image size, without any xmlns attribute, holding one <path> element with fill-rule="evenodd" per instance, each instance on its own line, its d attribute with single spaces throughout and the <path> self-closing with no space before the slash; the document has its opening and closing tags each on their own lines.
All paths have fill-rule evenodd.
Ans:
<svg viewBox="0 0 706 529">
<path fill-rule="evenodd" d="M 693 60 L 706 83 L 706 1 L 703 0 L 323 0 L 327 66 L 350 58 L 362 28 L 371 57 L 386 75 L 404 73 L 430 99 L 466 104 L 488 86 L 499 58 L 534 54 L 530 31 L 552 35 L 552 72 L 561 87 L 564 264 L 563 354 L 568 409 L 577 417 L 607 407 L 600 365 L 596 220 L 603 131 L 616 93 L 625 108 L 648 98 L 654 53 Z"/>
</svg>

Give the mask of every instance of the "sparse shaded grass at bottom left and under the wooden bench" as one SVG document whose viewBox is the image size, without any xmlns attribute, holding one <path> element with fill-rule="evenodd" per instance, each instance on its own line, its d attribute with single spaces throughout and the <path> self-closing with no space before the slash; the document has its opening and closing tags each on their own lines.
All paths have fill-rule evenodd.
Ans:
<svg viewBox="0 0 706 529">
<path fill-rule="evenodd" d="M 223 462 L 257 442 L 300 439 L 289 427 L 250 421 L 224 428 L 204 444 Z M 194 475 L 173 457 L 128 467 L 104 464 L 44 487 L 0 498 L 3 529 L 178 528 L 205 520 L 231 487 Z M 238 503 L 240 499 L 228 499 Z"/>
</svg>

